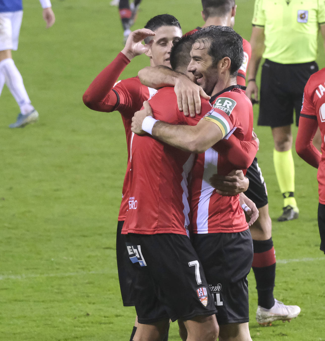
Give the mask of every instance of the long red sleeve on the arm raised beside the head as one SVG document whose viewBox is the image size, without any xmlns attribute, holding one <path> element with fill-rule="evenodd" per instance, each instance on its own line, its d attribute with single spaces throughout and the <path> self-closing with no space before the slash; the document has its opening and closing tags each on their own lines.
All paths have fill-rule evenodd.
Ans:
<svg viewBox="0 0 325 341">
<path fill-rule="evenodd" d="M 130 60 L 120 52 L 92 81 L 82 100 L 90 109 L 112 112 L 118 104 L 118 95 L 112 88 Z"/>
</svg>

